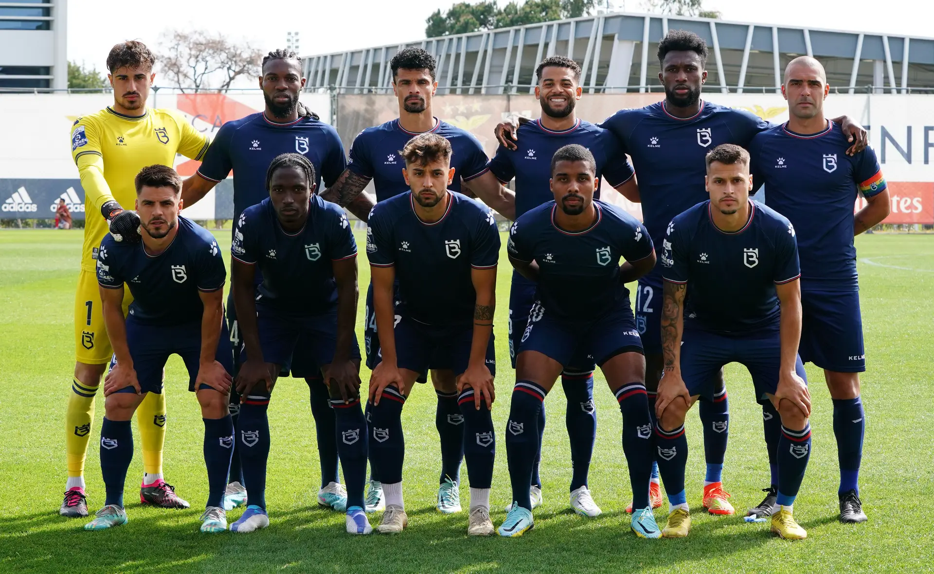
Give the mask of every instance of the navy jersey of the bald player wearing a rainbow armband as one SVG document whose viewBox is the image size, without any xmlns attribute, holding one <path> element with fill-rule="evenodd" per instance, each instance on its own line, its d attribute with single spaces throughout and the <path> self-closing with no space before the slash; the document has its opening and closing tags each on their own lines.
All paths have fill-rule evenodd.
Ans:
<svg viewBox="0 0 934 574">
<path fill-rule="evenodd" d="M 765 185 L 765 203 L 798 232 L 802 279 L 856 278 L 853 206 L 856 194 L 882 193 L 885 179 L 871 147 L 853 157 L 839 125 L 802 135 L 772 126 L 749 146 L 753 185 Z"/>
</svg>

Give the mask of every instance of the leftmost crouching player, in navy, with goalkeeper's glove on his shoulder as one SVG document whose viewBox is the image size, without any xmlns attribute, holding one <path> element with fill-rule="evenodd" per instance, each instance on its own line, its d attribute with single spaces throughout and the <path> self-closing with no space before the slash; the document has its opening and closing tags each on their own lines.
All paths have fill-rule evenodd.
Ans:
<svg viewBox="0 0 934 574">
<path fill-rule="evenodd" d="M 104 508 L 87 525 L 103 530 L 126 524 L 123 483 L 133 460 L 130 419 L 148 393 L 163 392 L 170 355 L 185 361 L 205 421 L 207 508 L 202 532 L 227 529 L 221 508 L 233 452 L 233 422 L 227 410 L 233 354 L 223 321 L 227 272 L 214 237 L 179 217 L 181 178 L 164 165 L 144 167 L 135 179 L 142 242 L 106 235 L 97 254 L 97 281 L 107 336 L 117 363 L 104 381 L 106 415 L 101 427 Z M 124 319 L 123 284 L 134 301 Z"/>
</svg>

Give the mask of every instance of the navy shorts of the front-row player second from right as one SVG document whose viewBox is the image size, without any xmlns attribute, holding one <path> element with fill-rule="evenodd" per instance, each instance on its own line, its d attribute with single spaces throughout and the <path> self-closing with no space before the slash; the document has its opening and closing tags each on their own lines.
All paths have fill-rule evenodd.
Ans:
<svg viewBox="0 0 934 574">
<path fill-rule="evenodd" d="M 531 307 L 519 339 L 519 353 L 538 351 L 568 367 L 575 357 L 602 365 L 616 355 L 643 352 L 629 304 L 594 321 L 562 321 L 549 315 L 539 301 Z"/>
</svg>

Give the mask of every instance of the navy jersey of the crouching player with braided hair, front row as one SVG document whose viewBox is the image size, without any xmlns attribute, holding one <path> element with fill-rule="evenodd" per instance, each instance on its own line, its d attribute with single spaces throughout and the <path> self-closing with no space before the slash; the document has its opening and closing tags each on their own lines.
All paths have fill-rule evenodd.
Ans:
<svg viewBox="0 0 934 574">
<path fill-rule="evenodd" d="M 336 203 L 312 195 L 304 227 L 287 233 L 267 197 L 240 215 L 231 255 L 259 266 L 259 304 L 288 315 L 321 315 L 337 306 L 332 261 L 356 257 L 357 244 Z"/>
</svg>

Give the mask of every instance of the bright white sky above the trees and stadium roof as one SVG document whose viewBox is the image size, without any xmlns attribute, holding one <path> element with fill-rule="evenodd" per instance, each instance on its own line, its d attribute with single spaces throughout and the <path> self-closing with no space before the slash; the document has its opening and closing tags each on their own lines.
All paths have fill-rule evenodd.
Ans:
<svg viewBox="0 0 934 574">
<path fill-rule="evenodd" d="M 254 0 L 161 0 L 124 16 L 120 11 L 127 7 L 125 0 L 71 0 L 68 59 L 103 70 L 107 51 L 117 42 L 135 38 L 155 46 L 159 35 L 170 28 L 222 30 L 232 38 L 247 38 L 264 51 L 285 47 L 286 33 L 300 32 L 302 55 L 398 44 L 423 38 L 425 19 L 453 3 L 298 0 L 267 5 Z M 505 0 L 500 0 L 503 4 Z M 814 28 L 931 36 L 929 19 L 918 13 L 924 4 L 926 0 L 704 1 L 705 7 L 723 12 L 727 21 L 808 22 Z M 643 0 L 611 0 L 611 6 L 617 11 L 644 11 Z"/>
</svg>

